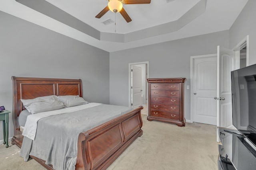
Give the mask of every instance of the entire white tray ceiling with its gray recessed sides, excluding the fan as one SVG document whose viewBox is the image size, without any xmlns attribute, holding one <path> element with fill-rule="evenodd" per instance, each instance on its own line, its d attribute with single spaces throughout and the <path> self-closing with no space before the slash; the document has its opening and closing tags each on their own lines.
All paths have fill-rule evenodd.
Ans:
<svg viewBox="0 0 256 170">
<path fill-rule="evenodd" d="M 174 0 L 167 3 L 166 0 L 151 0 L 150 4 L 127 4 L 124 9 L 132 21 L 127 23 L 121 14 L 117 13 L 115 33 L 114 23 L 101 23 L 109 18 L 115 20 L 113 12 L 107 12 L 100 19 L 95 18 L 107 6 L 107 0 L 47 0 L 74 19 L 82 21 L 86 28 L 84 30 L 74 27 L 72 21 L 68 24 L 65 18 L 47 16 L 44 10 L 47 12 L 48 9 L 39 10 L 42 14 L 37 12 L 37 9 L 33 10 L 35 8 L 31 9 L 35 4 L 25 6 L 21 3 L 26 0 L 17 1 L 0 0 L 0 10 L 108 52 L 228 30 L 248 2 Z M 30 2 L 32 1 L 28 1 Z M 38 8 L 41 9 L 40 6 Z M 54 15 L 58 16 L 58 10 Z M 91 28 L 87 29 L 86 25 Z"/>
</svg>

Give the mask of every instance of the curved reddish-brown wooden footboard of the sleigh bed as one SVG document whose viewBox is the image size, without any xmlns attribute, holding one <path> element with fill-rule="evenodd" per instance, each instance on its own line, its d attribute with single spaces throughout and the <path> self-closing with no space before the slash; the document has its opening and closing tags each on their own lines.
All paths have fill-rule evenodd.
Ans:
<svg viewBox="0 0 256 170">
<path fill-rule="evenodd" d="M 99 125 L 78 137 L 76 170 L 106 169 L 142 135 L 142 106 Z"/>
</svg>

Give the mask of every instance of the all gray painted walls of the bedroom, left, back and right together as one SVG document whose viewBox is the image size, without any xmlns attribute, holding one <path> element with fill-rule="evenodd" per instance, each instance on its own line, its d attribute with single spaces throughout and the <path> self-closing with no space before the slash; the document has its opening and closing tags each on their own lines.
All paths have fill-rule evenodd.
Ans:
<svg viewBox="0 0 256 170">
<path fill-rule="evenodd" d="M 249 0 L 229 31 L 110 54 L 0 12 L 0 105 L 12 111 L 11 76 L 28 76 L 81 78 L 83 95 L 89 102 L 128 106 L 128 63 L 149 61 L 149 78 L 186 77 L 185 85 L 190 85 L 190 56 L 214 54 L 217 45 L 232 49 L 246 35 L 249 35 L 249 64 L 254 64 L 255 8 L 256 1 Z M 187 89 L 185 118 L 190 119 L 190 90 Z M 11 137 L 12 114 L 9 127 Z"/>
</svg>

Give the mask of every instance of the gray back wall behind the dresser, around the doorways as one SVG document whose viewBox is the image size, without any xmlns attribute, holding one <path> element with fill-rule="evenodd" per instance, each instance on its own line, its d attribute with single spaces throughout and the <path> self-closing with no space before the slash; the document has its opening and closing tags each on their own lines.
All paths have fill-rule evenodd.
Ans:
<svg viewBox="0 0 256 170">
<path fill-rule="evenodd" d="M 149 78 L 187 78 L 190 85 L 190 56 L 217 53 L 228 47 L 228 31 L 178 39 L 110 53 L 110 104 L 128 106 L 128 64 L 149 61 Z M 185 118 L 190 120 L 190 89 L 185 89 Z"/>
</svg>

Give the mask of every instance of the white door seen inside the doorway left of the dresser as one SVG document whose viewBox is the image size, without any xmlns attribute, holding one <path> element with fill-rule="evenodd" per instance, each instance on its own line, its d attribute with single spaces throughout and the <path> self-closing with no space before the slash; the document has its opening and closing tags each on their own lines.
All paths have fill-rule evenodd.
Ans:
<svg viewBox="0 0 256 170">
<path fill-rule="evenodd" d="M 142 104 L 142 71 L 139 66 L 132 66 L 132 107 Z"/>
</svg>

